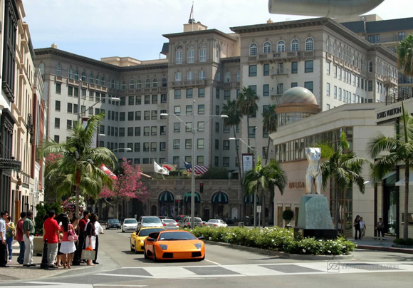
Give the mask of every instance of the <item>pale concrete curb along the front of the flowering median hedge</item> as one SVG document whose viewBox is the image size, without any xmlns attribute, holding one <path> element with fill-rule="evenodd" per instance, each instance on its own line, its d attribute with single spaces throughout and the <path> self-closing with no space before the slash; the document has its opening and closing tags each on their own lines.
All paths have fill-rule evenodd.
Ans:
<svg viewBox="0 0 413 288">
<path fill-rule="evenodd" d="M 319 260 L 352 260 L 354 259 L 352 254 L 331 255 L 331 256 L 330 255 L 300 255 L 300 254 L 289 254 L 286 252 L 278 252 L 278 251 L 266 250 L 266 249 L 255 248 L 255 247 L 246 247 L 246 246 L 241 246 L 241 245 L 222 243 L 222 242 L 213 242 L 213 241 L 204 241 L 204 242 L 209 245 L 217 245 L 217 246 L 228 247 L 228 248 L 236 249 L 236 250 L 249 251 L 249 252 L 266 254 L 266 255 L 271 255 L 271 256 L 278 256 L 281 258 L 294 259 L 294 260 L 319 261 Z"/>
</svg>

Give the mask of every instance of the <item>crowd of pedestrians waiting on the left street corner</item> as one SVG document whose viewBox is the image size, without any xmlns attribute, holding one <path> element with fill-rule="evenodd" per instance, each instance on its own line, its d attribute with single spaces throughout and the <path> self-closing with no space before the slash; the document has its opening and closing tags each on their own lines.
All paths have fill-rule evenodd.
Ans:
<svg viewBox="0 0 413 288">
<path fill-rule="evenodd" d="M 98 222 L 98 215 L 83 212 L 83 218 L 73 216 L 70 220 L 66 213 L 56 216 L 54 210 L 48 211 L 43 222 L 43 242 L 47 240 L 48 267 L 71 269 L 72 265 L 87 263 L 99 264 L 99 234 L 104 234 Z M 0 217 L 0 267 L 9 267 L 13 255 L 13 240 L 19 242 L 20 252 L 17 262 L 24 267 L 33 264 L 33 240 L 35 229 L 33 212 L 21 212 L 20 220 L 14 225 L 9 212 L 2 211 Z M 95 250 L 95 259 L 82 259 L 82 250 L 90 247 Z"/>
</svg>

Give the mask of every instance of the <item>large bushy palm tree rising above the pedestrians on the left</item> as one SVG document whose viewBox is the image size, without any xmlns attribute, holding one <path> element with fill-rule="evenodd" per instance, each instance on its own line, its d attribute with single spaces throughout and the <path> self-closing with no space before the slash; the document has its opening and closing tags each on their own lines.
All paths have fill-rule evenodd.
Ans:
<svg viewBox="0 0 413 288">
<path fill-rule="evenodd" d="M 115 155 L 105 147 L 92 148 L 103 117 L 103 113 L 92 116 L 85 127 L 83 123 L 76 121 L 65 143 L 48 140 L 43 143 L 43 158 L 50 154 L 58 155 L 46 177 L 65 175 L 60 185 L 61 189 L 70 192 L 73 186 L 76 187 L 76 215 L 79 215 L 80 189 L 92 195 L 98 195 L 103 184 L 109 186 L 112 184 L 108 175 L 100 170 L 100 165 L 105 163 L 113 167 Z"/>
</svg>

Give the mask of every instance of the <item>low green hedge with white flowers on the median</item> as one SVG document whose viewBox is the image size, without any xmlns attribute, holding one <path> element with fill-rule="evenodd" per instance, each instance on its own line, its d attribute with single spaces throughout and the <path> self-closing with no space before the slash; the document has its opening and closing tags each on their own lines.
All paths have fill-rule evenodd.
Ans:
<svg viewBox="0 0 413 288">
<path fill-rule="evenodd" d="M 231 243 L 247 247 L 282 251 L 291 254 L 347 255 L 355 250 L 355 245 L 339 237 L 337 240 L 315 240 L 315 238 L 294 238 L 293 230 L 268 227 L 263 230 L 239 227 L 195 227 L 195 236 L 205 240 Z"/>
</svg>

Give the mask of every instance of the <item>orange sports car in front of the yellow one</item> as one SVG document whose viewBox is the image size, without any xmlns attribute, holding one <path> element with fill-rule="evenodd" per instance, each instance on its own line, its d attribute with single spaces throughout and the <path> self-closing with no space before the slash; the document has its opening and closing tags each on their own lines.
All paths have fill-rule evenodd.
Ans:
<svg viewBox="0 0 413 288">
<path fill-rule="evenodd" d="M 160 231 L 150 233 L 145 239 L 144 255 L 146 259 L 205 259 L 204 237 L 195 237 L 191 232 Z"/>
</svg>

